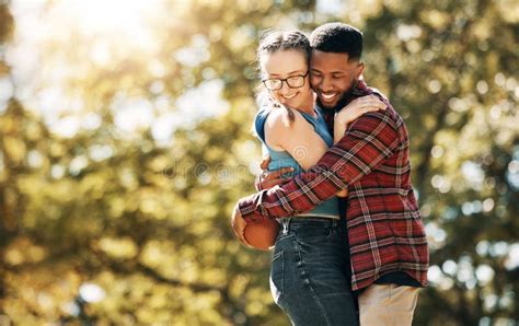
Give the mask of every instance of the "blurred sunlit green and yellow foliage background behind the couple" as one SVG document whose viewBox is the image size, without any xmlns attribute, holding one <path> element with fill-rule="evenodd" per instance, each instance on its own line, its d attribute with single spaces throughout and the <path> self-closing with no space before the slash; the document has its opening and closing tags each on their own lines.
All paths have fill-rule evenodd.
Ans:
<svg viewBox="0 0 519 326">
<path fill-rule="evenodd" d="M 342 21 L 411 132 L 415 325 L 518 325 L 515 0 L 0 0 L 0 325 L 287 325 L 229 228 L 255 47 Z"/>
</svg>

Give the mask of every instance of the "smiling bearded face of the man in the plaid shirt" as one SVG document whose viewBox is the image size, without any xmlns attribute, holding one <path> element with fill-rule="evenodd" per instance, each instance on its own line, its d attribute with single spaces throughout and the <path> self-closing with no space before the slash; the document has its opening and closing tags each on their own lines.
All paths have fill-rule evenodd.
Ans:
<svg viewBox="0 0 519 326">
<path fill-rule="evenodd" d="M 348 54 L 312 50 L 310 83 L 318 94 L 320 107 L 336 109 L 344 106 L 347 93 L 364 71 L 362 62 L 348 59 Z"/>
</svg>

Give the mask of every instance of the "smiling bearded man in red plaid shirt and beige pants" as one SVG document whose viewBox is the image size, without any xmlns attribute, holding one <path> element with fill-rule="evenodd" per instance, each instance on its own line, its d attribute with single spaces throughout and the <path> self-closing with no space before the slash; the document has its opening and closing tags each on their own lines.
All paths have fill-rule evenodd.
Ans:
<svg viewBox="0 0 519 326">
<path fill-rule="evenodd" d="M 368 94 L 388 107 L 351 123 L 316 166 L 240 200 L 233 229 L 244 241 L 247 222 L 308 211 L 347 189 L 351 289 L 358 293 L 360 324 L 411 325 L 418 289 L 427 284 L 428 248 L 411 184 L 407 129 L 388 100 L 361 80 L 358 30 L 325 24 L 310 42 L 310 81 L 330 125 L 336 109 Z"/>
</svg>

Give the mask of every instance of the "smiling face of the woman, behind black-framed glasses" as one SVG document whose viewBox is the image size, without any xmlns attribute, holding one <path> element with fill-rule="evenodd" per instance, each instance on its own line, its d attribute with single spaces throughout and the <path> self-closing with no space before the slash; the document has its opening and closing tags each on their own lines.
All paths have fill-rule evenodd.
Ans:
<svg viewBox="0 0 519 326">
<path fill-rule="evenodd" d="M 263 80 L 284 80 L 279 90 L 269 90 L 276 101 L 296 109 L 313 107 L 313 93 L 310 89 L 308 63 L 301 51 L 278 50 L 273 54 L 265 54 L 262 57 L 261 67 Z M 295 89 L 288 86 L 285 79 L 292 78 L 290 79 L 292 81 L 293 77 L 297 75 L 305 75 L 304 84 Z"/>
</svg>

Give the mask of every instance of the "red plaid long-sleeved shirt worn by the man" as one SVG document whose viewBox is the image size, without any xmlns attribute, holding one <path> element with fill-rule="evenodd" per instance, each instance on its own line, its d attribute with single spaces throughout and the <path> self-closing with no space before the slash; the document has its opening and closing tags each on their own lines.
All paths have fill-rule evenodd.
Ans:
<svg viewBox="0 0 519 326">
<path fill-rule="evenodd" d="M 379 94 L 360 82 L 349 100 L 373 92 Z M 367 288 L 394 271 L 404 271 L 425 287 L 429 254 L 411 184 L 407 129 L 388 100 L 380 97 L 388 108 L 351 123 L 314 167 L 243 198 L 239 209 L 247 222 L 287 218 L 347 188 L 351 289 Z"/>
</svg>

